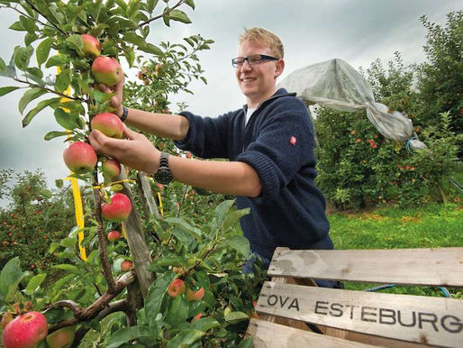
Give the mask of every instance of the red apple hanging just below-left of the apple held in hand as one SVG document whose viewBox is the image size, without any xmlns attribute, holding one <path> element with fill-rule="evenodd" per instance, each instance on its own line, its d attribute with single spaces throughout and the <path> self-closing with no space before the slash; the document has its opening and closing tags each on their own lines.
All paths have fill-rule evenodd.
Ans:
<svg viewBox="0 0 463 348">
<path fill-rule="evenodd" d="M 63 160 L 77 174 L 92 171 L 96 165 L 96 152 L 92 145 L 86 142 L 73 142 L 63 152 Z"/>
</svg>

